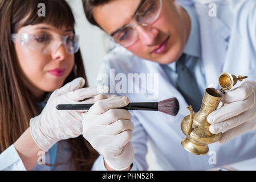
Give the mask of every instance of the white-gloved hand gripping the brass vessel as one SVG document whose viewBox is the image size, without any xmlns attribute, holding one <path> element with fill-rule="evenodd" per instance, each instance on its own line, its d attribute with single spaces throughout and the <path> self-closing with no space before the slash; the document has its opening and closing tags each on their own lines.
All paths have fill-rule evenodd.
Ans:
<svg viewBox="0 0 256 182">
<path fill-rule="evenodd" d="M 225 131 L 218 140 L 219 144 L 256 129 L 256 82 L 243 82 L 238 88 L 226 92 L 222 102 L 224 107 L 208 116 L 208 122 L 212 124 L 209 127 L 211 133 Z"/>
</svg>

